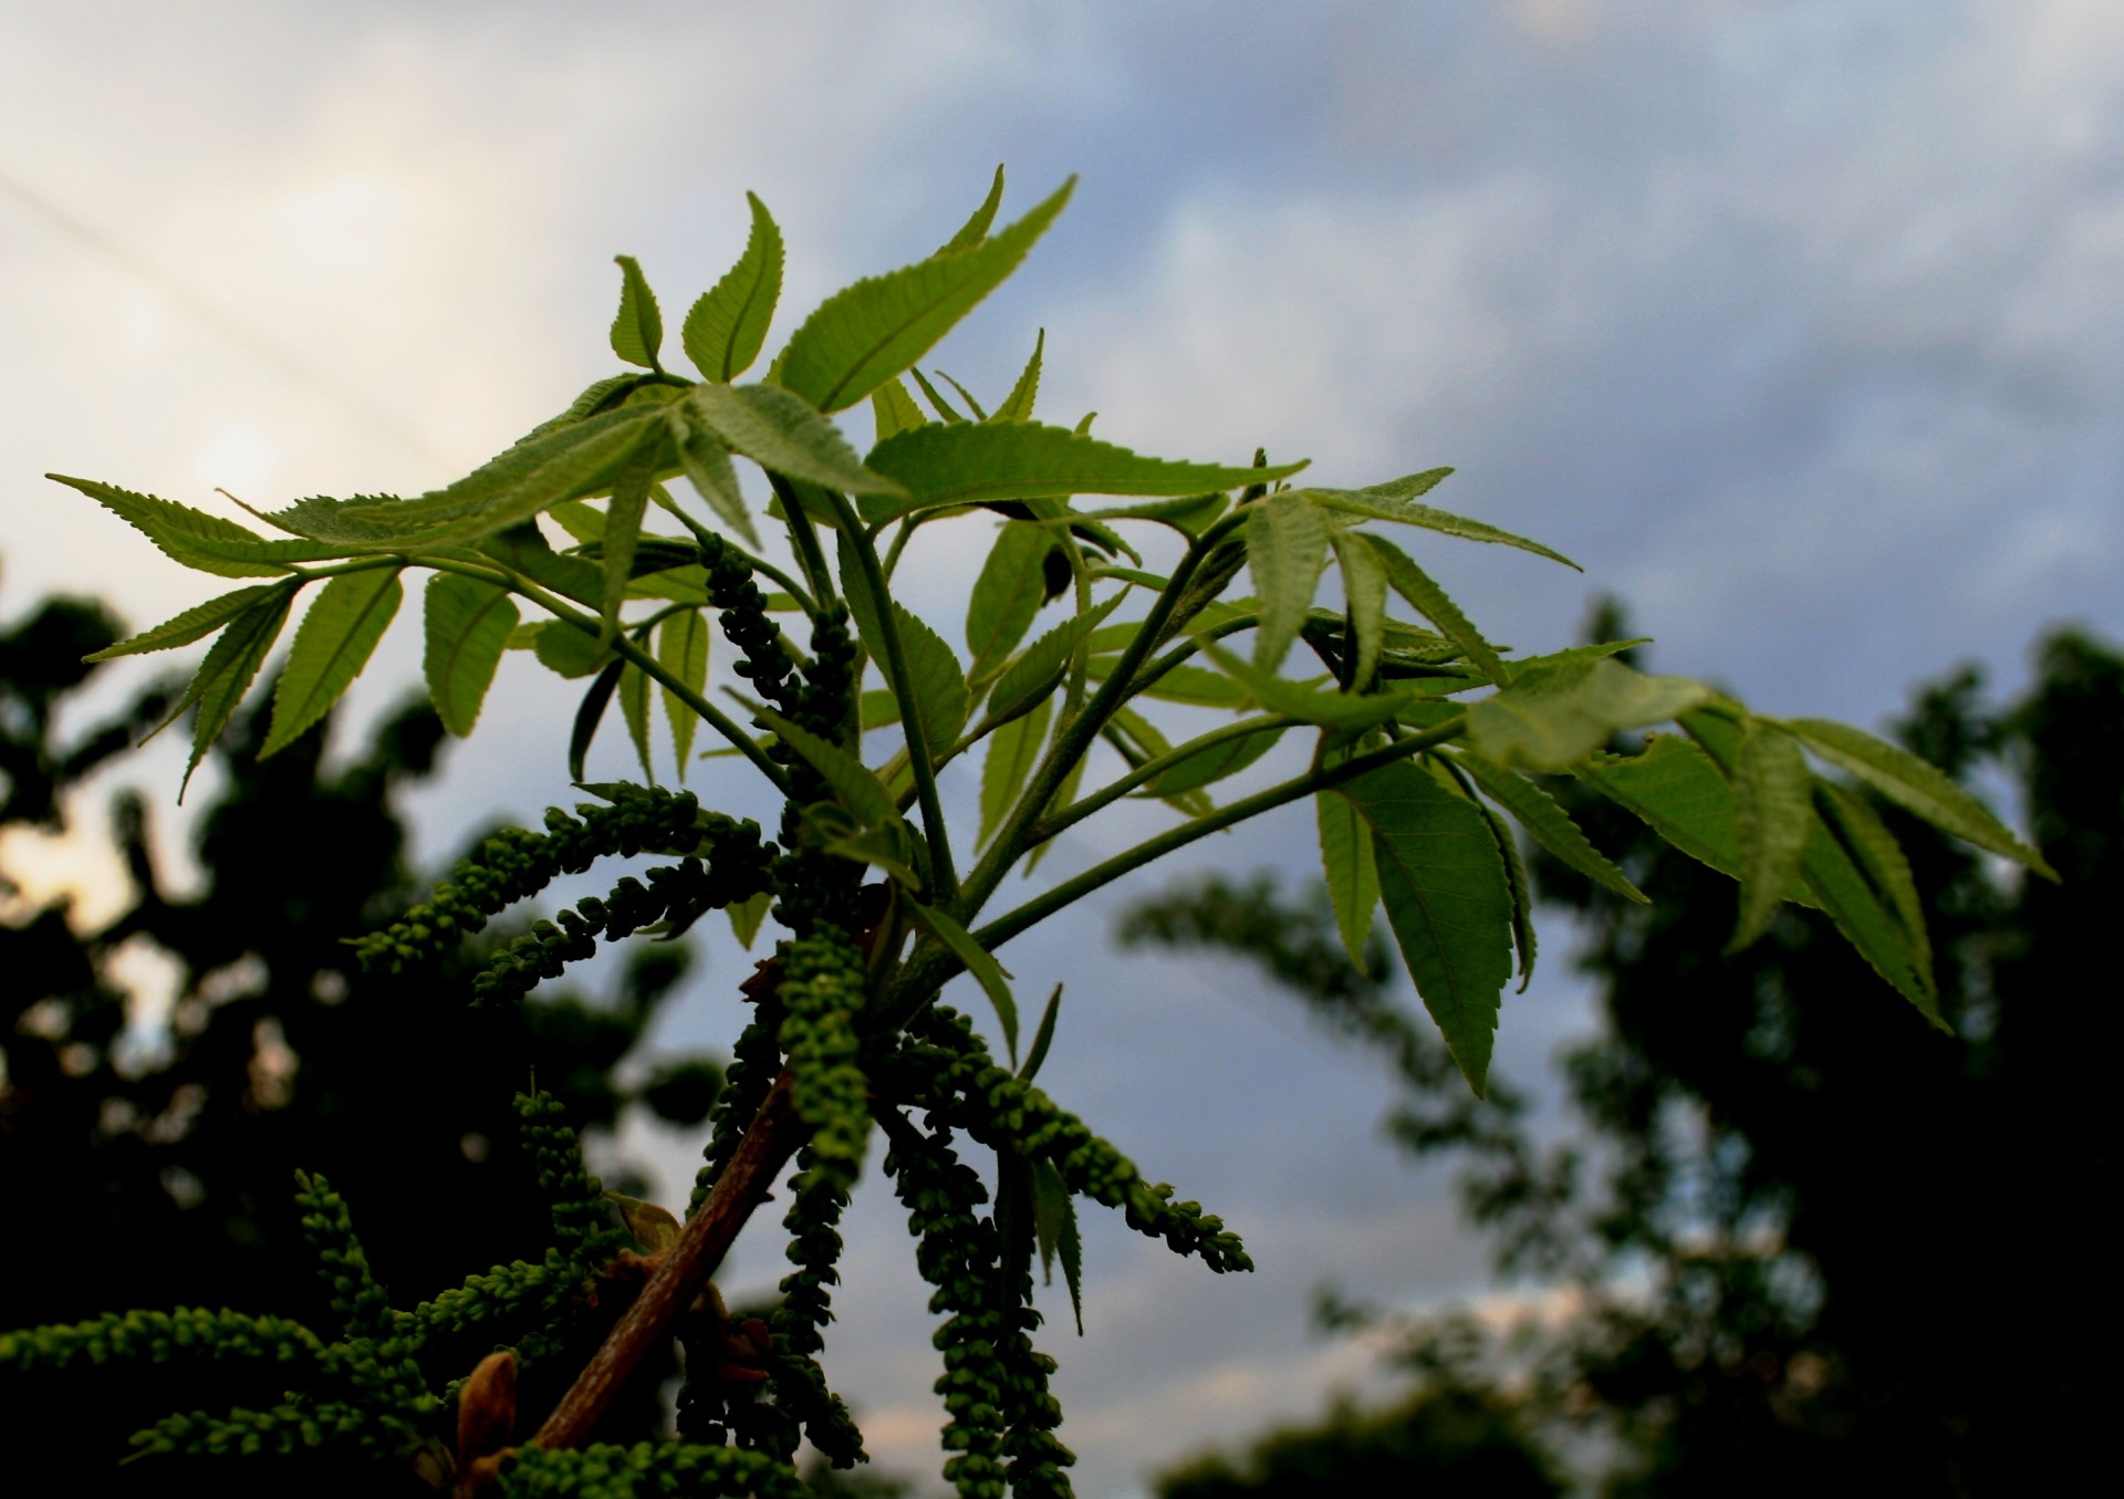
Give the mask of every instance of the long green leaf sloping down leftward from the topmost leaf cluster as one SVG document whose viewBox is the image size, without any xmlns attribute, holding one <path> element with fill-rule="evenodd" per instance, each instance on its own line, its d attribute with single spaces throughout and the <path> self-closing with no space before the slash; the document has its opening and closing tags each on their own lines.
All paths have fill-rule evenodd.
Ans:
<svg viewBox="0 0 2124 1499">
<path fill-rule="evenodd" d="M 650 444 L 669 442 L 663 406 L 624 406 L 561 427 L 544 437 L 527 437 L 465 478 L 421 499 L 361 501 L 338 510 L 342 531 L 367 531 L 355 550 L 401 550 L 406 546 L 450 546 L 529 520 L 563 499 L 605 495 Z M 663 467 L 661 463 L 656 467 Z M 278 512 L 268 520 L 287 518 Z"/>
</svg>

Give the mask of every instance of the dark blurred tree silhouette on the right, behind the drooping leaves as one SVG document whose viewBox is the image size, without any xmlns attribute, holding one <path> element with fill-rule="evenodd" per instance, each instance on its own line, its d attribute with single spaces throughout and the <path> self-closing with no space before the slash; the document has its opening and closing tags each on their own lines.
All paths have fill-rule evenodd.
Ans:
<svg viewBox="0 0 2124 1499">
<path fill-rule="evenodd" d="M 1512 1100 L 1451 1100 L 1438 1062 L 1410 1059 L 1408 1026 L 1366 1019 L 1391 1009 L 1376 987 L 1308 975 L 1306 951 L 1323 970 L 1336 951 L 1323 909 L 1211 885 L 1126 930 L 1249 953 L 1385 1045 L 1406 1083 L 1395 1136 L 1463 1153 L 1500 1270 L 1582 1289 L 1512 1389 L 1551 1433 L 1591 1423 L 1621 1442 L 1610 1493 L 1795 1493 L 1827 1474 L 1912 1495 L 2082 1488 L 2109 1467 L 2096 1401 L 2118 1333 L 2101 1270 L 2118 981 L 2090 943 L 2124 896 L 2124 658 L 2060 631 L 2035 665 L 2005 707 L 1958 671 L 1897 733 L 1973 790 L 2009 792 L 2062 883 L 2001 873 L 1875 803 L 1924 896 L 1952 1036 L 1797 907 L 1727 955 L 1733 883 L 1568 779 L 1551 790 L 1652 898 L 1531 860 L 1540 896 L 1582 917 L 1606 1017 L 1563 1057 L 1574 1142 L 1536 1149 Z M 1432 1369 L 1410 1410 L 1470 1382 L 1495 1393 Z M 1355 1463 L 1364 1423 L 1389 1418 L 1342 1414 L 1262 1452 L 1325 1444 Z M 1251 1486 L 1200 1493 L 1281 1493 L 1266 1461 Z"/>
</svg>

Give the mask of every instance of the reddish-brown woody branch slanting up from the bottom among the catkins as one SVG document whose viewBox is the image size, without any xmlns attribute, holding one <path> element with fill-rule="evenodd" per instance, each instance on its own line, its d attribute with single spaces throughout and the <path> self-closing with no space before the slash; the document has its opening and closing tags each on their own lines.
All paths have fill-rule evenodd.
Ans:
<svg viewBox="0 0 2124 1499">
<path fill-rule="evenodd" d="M 775 1178 L 803 1144 L 803 1123 L 790 1108 L 790 1074 L 784 1068 L 767 1091 L 760 1113 L 752 1117 L 746 1138 L 739 1140 L 737 1155 L 716 1181 L 716 1189 L 686 1223 L 678 1244 L 656 1265 L 635 1304 L 614 1323 L 605 1344 L 576 1376 L 576 1384 L 546 1416 L 546 1425 L 533 1437 L 537 1446 L 582 1446 L 590 1440 L 590 1431 L 597 1429 L 599 1418 L 629 1376 L 652 1348 L 671 1336 L 678 1319 L 701 1295 L 701 1287 L 716 1274 L 722 1257 L 731 1253 L 746 1219 L 767 1202 Z"/>
</svg>

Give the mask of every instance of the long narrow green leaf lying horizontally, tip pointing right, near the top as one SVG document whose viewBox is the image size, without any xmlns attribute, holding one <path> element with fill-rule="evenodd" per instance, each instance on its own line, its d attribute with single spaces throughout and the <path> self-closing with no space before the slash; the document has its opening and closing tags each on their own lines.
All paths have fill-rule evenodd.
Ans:
<svg viewBox="0 0 2124 1499">
<path fill-rule="evenodd" d="M 869 465 L 898 480 L 913 499 L 867 505 L 871 524 L 913 510 L 973 505 L 983 499 L 1062 499 L 1066 495 L 1200 495 L 1296 473 L 1304 463 L 1240 469 L 1215 463 L 1147 459 L 1068 427 L 1043 423 L 930 423 L 871 448 Z"/>
</svg>

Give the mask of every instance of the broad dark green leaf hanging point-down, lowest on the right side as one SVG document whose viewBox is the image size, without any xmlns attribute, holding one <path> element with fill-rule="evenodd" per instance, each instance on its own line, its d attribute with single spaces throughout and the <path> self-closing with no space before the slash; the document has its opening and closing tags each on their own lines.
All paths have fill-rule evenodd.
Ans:
<svg viewBox="0 0 2124 1499">
<path fill-rule="evenodd" d="M 1372 834 L 1387 926 L 1468 1087 L 1489 1085 L 1512 979 L 1512 888 L 1483 813 L 1412 764 L 1334 788 Z"/>
</svg>

